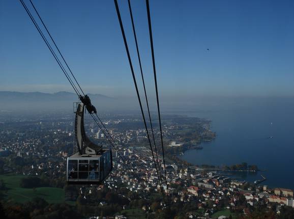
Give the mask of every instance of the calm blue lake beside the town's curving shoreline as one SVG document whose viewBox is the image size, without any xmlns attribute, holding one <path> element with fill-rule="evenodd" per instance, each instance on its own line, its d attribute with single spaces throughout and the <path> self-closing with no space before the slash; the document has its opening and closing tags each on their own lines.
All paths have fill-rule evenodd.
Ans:
<svg viewBox="0 0 294 219">
<path fill-rule="evenodd" d="M 261 172 L 267 177 L 263 184 L 294 189 L 294 98 L 201 99 L 194 110 L 177 113 L 212 120 L 217 134 L 202 150 L 186 151 L 182 159 L 194 164 L 255 164 L 267 169 Z M 260 173 L 234 177 L 254 181 Z"/>
</svg>

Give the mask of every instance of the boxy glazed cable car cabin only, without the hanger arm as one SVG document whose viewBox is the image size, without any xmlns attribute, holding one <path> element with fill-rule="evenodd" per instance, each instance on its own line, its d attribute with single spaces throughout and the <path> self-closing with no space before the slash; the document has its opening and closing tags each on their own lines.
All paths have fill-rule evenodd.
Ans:
<svg viewBox="0 0 294 219">
<path fill-rule="evenodd" d="M 74 154 L 67 158 L 68 184 L 102 184 L 111 170 L 110 149 L 104 149 L 100 155 Z"/>
</svg>

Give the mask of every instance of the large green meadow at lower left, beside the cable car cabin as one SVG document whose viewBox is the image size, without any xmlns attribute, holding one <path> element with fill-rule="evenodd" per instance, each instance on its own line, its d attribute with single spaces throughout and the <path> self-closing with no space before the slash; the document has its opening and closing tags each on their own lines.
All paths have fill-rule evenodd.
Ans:
<svg viewBox="0 0 294 219">
<path fill-rule="evenodd" d="M 48 203 L 65 202 L 65 191 L 62 188 L 54 187 L 38 187 L 38 188 L 21 188 L 20 180 L 27 176 L 23 175 L 0 175 L 0 179 L 4 180 L 8 190 L 4 192 L 5 199 L 13 202 L 24 203 L 31 201 L 35 197 L 45 199 Z M 73 204 L 74 202 L 67 202 Z"/>
</svg>

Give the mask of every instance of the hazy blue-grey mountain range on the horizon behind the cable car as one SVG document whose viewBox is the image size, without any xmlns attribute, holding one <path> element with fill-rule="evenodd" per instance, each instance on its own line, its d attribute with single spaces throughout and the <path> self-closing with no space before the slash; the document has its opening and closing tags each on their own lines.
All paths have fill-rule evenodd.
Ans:
<svg viewBox="0 0 294 219">
<path fill-rule="evenodd" d="M 130 105 L 133 105 L 126 98 L 112 98 L 101 94 L 88 95 L 98 110 L 114 110 L 117 106 L 122 107 L 122 110 L 126 110 Z M 73 102 L 78 102 L 79 99 L 76 94 L 71 92 L 49 94 L 0 91 L 0 101 L 0 111 L 58 111 L 72 110 Z M 131 102 L 133 102 L 133 99 Z"/>
</svg>

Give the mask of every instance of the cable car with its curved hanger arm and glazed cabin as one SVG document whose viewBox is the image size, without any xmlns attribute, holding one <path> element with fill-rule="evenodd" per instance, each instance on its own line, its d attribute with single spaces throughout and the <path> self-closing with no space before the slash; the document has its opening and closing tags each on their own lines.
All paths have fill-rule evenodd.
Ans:
<svg viewBox="0 0 294 219">
<path fill-rule="evenodd" d="M 67 158 L 68 184 L 102 184 L 112 170 L 111 149 L 95 145 L 84 130 L 84 107 L 78 103 L 75 112 L 75 142 L 78 152 Z"/>
</svg>

